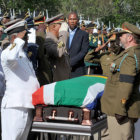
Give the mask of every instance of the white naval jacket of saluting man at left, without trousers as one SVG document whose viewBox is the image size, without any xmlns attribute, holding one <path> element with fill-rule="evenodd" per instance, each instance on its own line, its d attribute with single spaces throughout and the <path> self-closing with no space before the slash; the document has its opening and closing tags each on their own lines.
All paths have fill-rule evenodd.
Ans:
<svg viewBox="0 0 140 140">
<path fill-rule="evenodd" d="M 2 107 L 34 108 L 32 93 L 39 88 L 39 83 L 32 63 L 23 50 L 24 43 L 22 39 L 16 38 L 1 54 L 6 80 Z"/>
</svg>

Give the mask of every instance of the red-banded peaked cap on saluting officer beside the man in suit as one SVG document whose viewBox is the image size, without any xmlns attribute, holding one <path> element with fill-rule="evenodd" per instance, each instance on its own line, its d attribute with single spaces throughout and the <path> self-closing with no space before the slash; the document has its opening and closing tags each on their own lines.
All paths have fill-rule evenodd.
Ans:
<svg viewBox="0 0 140 140">
<path fill-rule="evenodd" d="M 59 14 L 45 21 L 47 24 L 58 24 L 64 22 L 64 14 Z"/>
</svg>

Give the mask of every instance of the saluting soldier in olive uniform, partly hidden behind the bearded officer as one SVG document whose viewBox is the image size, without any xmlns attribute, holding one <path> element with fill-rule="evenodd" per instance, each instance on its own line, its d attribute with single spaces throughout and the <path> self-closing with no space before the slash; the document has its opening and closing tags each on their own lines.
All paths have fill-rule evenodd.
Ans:
<svg viewBox="0 0 140 140">
<path fill-rule="evenodd" d="M 98 53 L 100 50 L 104 49 L 108 44 L 111 44 L 107 52 L 102 52 L 101 54 Z M 106 42 L 104 45 L 88 52 L 85 57 L 87 62 L 91 63 L 100 63 L 102 68 L 102 74 L 105 76 L 110 75 L 110 64 L 113 61 L 113 58 L 118 55 L 122 51 L 121 47 L 117 43 L 116 34 L 112 34 L 109 38 L 109 41 Z"/>
</svg>

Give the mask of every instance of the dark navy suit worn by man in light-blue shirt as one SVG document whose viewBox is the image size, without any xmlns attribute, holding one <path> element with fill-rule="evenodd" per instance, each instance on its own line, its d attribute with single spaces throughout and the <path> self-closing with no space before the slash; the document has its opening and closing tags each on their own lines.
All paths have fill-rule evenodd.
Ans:
<svg viewBox="0 0 140 140">
<path fill-rule="evenodd" d="M 84 57 L 89 47 L 88 33 L 77 28 L 71 46 L 69 48 L 69 39 L 67 41 L 67 50 L 70 56 L 71 78 L 85 75 Z"/>
</svg>

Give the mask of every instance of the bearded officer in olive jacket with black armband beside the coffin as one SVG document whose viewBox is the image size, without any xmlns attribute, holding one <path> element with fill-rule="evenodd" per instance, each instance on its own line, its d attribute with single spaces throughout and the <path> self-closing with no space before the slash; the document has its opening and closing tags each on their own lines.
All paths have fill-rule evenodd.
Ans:
<svg viewBox="0 0 140 140">
<path fill-rule="evenodd" d="M 111 140 L 133 140 L 134 121 L 140 117 L 140 30 L 124 22 L 119 35 L 125 50 L 113 59 L 101 109 Z"/>
</svg>

